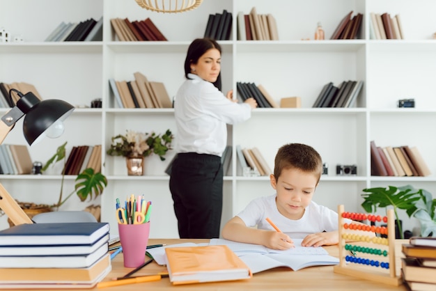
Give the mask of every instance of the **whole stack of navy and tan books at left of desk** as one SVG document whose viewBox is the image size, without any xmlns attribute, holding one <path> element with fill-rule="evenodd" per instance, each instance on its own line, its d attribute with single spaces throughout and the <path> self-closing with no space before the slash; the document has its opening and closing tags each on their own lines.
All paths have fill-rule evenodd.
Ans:
<svg viewBox="0 0 436 291">
<path fill-rule="evenodd" d="M 0 231 L 0 288 L 93 288 L 111 271 L 109 223 L 33 223 Z"/>
</svg>

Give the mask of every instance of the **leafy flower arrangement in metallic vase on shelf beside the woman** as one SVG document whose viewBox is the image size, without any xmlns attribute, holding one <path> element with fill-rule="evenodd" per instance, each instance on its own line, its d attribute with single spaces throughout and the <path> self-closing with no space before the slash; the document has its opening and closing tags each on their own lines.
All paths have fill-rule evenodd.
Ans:
<svg viewBox="0 0 436 291">
<path fill-rule="evenodd" d="M 174 136 L 170 129 L 167 129 L 164 134 L 127 130 L 124 135 L 118 134 L 112 137 L 107 154 L 125 157 L 128 175 L 142 175 L 144 158 L 155 154 L 161 161 L 164 161 L 166 152 L 171 150 L 173 139 Z"/>
</svg>

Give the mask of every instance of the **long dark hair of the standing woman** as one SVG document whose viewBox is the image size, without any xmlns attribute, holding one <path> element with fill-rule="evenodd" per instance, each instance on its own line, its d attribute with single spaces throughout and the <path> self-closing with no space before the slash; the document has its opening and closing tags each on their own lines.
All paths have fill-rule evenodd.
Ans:
<svg viewBox="0 0 436 291">
<path fill-rule="evenodd" d="M 196 64 L 198 62 L 198 58 L 203 56 L 205 52 L 209 49 L 218 49 L 219 54 L 221 54 L 221 46 L 215 40 L 211 38 L 196 38 L 189 45 L 188 52 L 186 54 L 185 59 L 185 77 L 186 79 L 190 79 L 188 74 L 191 72 L 191 64 Z M 213 83 L 215 87 L 221 91 L 221 72 L 219 72 L 217 81 Z"/>
</svg>

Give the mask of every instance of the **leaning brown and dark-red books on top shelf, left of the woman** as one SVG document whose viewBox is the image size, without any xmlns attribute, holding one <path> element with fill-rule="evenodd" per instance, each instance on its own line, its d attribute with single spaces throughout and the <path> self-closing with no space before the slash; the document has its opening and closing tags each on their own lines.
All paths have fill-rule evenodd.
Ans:
<svg viewBox="0 0 436 291">
<path fill-rule="evenodd" d="M 120 41 L 167 40 L 150 17 L 132 22 L 128 18 L 111 18 L 111 26 Z"/>
</svg>

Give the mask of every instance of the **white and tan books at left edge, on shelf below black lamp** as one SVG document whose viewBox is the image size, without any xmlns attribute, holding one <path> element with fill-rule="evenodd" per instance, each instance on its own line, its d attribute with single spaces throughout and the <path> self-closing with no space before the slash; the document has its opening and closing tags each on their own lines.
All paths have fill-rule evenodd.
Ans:
<svg viewBox="0 0 436 291">
<path fill-rule="evenodd" d="M 25 175 L 32 172 L 32 159 L 25 145 L 0 145 L 0 174 Z"/>
</svg>

